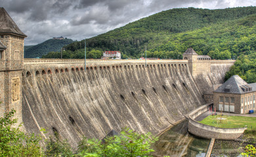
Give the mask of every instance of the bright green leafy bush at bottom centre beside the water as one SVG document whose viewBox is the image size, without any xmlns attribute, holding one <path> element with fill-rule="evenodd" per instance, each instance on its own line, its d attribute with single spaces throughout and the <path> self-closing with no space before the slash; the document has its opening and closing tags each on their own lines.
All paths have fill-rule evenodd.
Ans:
<svg viewBox="0 0 256 157">
<path fill-rule="evenodd" d="M 150 148 L 158 137 L 150 132 L 139 134 L 130 129 L 123 129 L 120 135 L 107 137 L 105 143 L 98 139 L 83 138 L 79 143 L 77 156 L 83 157 L 99 157 L 99 156 L 151 156 L 150 152 L 154 150 Z"/>
</svg>

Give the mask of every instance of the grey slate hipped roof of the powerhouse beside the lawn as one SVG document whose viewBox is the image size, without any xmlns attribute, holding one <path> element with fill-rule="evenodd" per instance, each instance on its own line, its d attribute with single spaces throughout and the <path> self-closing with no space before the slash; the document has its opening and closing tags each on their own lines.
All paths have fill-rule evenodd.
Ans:
<svg viewBox="0 0 256 157">
<path fill-rule="evenodd" d="M 228 92 L 232 94 L 244 94 L 246 92 L 255 91 L 255 84 L 247 84 L 238 75 L 233 75 L 230 79 L 226 80 L 215 92 Z"/>
</svg>

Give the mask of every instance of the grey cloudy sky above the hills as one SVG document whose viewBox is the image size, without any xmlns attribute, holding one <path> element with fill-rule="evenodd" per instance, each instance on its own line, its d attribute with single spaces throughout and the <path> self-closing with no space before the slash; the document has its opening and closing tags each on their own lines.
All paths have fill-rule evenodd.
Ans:
<svg viewBox="0 0 256 157">
<path fill-rule="evenodd" d="M 0 0 L 28 37 L 25 45 L 53 37 L 80 41 L 162 10 L 256 6 L 255 0 Z"/>
</svg>

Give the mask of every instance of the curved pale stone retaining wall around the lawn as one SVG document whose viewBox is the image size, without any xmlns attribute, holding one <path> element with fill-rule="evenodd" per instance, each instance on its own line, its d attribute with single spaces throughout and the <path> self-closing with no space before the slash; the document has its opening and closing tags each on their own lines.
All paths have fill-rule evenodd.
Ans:
<svg viewBox="0 0 256 157">
<path fill-rule="evenodd" d="M 212 103 L 208 103 L 198 107 L 188 114 L 188 131 L 198 137 L 206 139 L 237 139 L 244 133 L 247 128 L 216 128 L 214 126 L 208 126 L 194 120 L 200 114 L 205 113 Z"/>
</svg>

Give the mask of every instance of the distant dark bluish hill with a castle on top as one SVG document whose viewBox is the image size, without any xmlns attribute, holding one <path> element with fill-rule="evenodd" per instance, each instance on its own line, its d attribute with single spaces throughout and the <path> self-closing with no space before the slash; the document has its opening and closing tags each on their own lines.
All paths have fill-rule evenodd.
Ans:
<svg viewBox="0 0 256 157">
<path fill-rule="evenodd" d="M 49 39 L 34 46 L 24 46 L 24 58 L 41 58 L 41 56 L 48 54 L 49 52 L 60 52 L 60 49 L 63 46 L 73 42 L 72 39 Z"/>
</svg>

